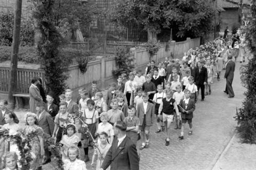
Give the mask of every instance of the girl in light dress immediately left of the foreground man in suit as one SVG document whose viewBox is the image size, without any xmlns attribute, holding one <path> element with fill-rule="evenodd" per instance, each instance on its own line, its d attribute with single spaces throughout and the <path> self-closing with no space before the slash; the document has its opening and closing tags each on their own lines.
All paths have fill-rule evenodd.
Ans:
<svg viewBox="0 0 256 170">
<path fill-rule="evenodd" d="M 91 165 L 93 165 L 95 157 L 98 156 L 96 170 L 100 169 L 100 166 L 103 163 L 103 160 L 107 155 L 109 148 L 111 147 L 111 145 L 107 142 L 108 134 L 106 132 L 101 132 L 99 134 L 99 139 L 100 139 L 100 143 L 97 147 L 94 148 L 94 153 L 92 156 L 92 163 L 91 163 Z M 109 170 L 109 169 L 110 169 L 110 166 L 106 170 Z"/>
</svg>

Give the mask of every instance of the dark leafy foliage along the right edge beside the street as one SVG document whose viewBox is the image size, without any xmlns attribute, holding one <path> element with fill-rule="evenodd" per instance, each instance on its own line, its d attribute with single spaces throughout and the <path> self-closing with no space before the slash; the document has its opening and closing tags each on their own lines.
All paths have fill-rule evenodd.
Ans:
<svg viewBox="0 0 256 170">
<path fill-rule="evenodd" d="M 247 47 L 250 49 L 252 57 L 246 64 L 242 73 L 242 81 L 247 91 L 243 107 L 236 113 L 238 123 L 237 131 L 245 143 L 256 143 L 256 1 L 253 0 L 251 6 L 252 19 L 245 30 Z"/>
</svg>

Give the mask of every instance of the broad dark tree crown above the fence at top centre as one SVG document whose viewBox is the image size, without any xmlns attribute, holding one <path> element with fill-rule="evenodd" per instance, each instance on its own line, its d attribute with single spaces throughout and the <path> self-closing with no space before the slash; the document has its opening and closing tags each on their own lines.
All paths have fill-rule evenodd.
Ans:
<svg viewBox="0 0 256 170">
<path fill-rule="evenodd" d="M 161 32 L 173 29 L 177 37 L 200 37 L 212 27 L 215 8 L 210 0 L 122 0 L 111 14 L 124 26 L 136 23 L 143 29 Z"/>
</svg>

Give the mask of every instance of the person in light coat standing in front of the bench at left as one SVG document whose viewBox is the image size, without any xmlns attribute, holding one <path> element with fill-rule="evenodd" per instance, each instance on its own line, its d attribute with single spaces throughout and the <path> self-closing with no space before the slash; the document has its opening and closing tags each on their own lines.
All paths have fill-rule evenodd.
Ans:
<svg viewBox="0 0 256 170">
<path fill-rule="evenodd" d="M 31 80 L 31 86 L 29 87 L 29 107 L 30 112 L 36 113 L 36 105 L 43 101 L 42 96 L 40 95 L 40 91 L 37 87 L 37 84 L 39 83 L 39 80 L 37 77 L 34 77 Z"/>
</svg>

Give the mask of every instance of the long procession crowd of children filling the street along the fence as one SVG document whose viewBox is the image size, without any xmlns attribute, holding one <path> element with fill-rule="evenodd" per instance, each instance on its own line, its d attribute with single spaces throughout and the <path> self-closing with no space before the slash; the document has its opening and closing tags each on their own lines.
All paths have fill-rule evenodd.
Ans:
<svg viewBox="0 0 256 170">
<path fill-rule="evenodd" d="M 192 135 L 193 112 L 198 100 L 196 81 L 200 71 L 202 67 L 207 70 L 203 86 L 205 95 L 211 95 L 211 84 L 214 78 L 220 80 L 227 56 L 232 53 L 231 48 L 217 41 L 195 50 L 189 49 L 182 60 L 166 57 L 157 66 L 155 61 L 150 61 L 145 76 L 142 70 L 134 69 L 129 75 L 120 75 L 117 83 L 110 83 L 106 100 L 95 81 L 90 89 L 79 89 L 79 96 L 74 101 L 73 91 L 67 89 L 59 96 L 59 109 L 52 107 L 53 98 L 47 95 L 46 110 L 55 123 L 52 138 L 62 146 L 65 169 L 86 169 L 90 146 L 94 147 L 91 165 L 97 159 L 96 169 L 100 169 L 114 140 L 113 125 L 117 121 L 125 122 L 126 135 L 135 145 L 141 139 L 141 150 L 149 148 L 150 128 L 154 123 L 157 125 L 156 133 L 166 131 L 166 146 L 170 145 L 172 122 L 174 129 L 180 129 L 180 140 L 184 139 L 186 123 L 189 125 L 188 135 Z M 0 102 L 2 112 L 5 105 Z M 83 148 L 84 161 L 78 159 L 79 147 Z M 16 168 L 17 155 L 6 152 L 3 158 L 5 169 Z"/>
</svg>

